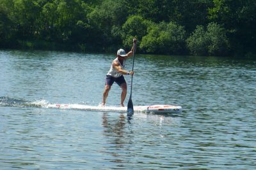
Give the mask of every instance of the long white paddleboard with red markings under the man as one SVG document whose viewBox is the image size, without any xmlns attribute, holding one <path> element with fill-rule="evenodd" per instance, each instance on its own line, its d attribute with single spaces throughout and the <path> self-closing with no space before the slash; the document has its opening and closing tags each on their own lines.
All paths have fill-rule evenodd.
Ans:
<svg viewBox="0 0 256 170">
<path fill-rule="evenodd" d="M 126 112 L 126 107 L 115 106 L 87 106 L 83 104 L 47 104 L 47 108 L 60 108 L 60 109 L 73 109 L 73 110 L 85 110 L 85 111 L 115 111 Z M 182 111 L 181 106 L 175 105 L 152 105 L 152 106 L 134 106 L 134 112 L 140 113 L 156 113 L 156 114 L 168 114 L 168 113 L 180 113 Z"/>
</svg>

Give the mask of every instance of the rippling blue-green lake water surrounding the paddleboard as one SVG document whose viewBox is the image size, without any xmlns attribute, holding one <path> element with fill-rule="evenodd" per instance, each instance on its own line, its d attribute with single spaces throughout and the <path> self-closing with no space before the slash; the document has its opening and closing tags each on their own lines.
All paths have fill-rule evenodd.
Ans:
<svg viewBox="0 0 256 170">
<path fill-rule="evenodd" d="M 0 169 L 256 168 L 256 60 L 136 55 L 133 104 L 177 104 L 176 115 L 128 120 L 126 113 L 22 105 L 97 106 L 114 58 L 0 51 Z M 114 84 L 107 105 L 118 106 L 120 93 Z"/>
</svg>

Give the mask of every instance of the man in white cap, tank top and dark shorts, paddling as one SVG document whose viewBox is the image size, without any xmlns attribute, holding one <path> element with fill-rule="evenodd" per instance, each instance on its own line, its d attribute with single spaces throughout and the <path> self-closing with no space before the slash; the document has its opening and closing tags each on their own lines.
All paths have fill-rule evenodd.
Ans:
<svg viewBox="0 0 256 170">
<path fill-rule="evenodd" d="M 119 49 L 116 53 L 116 59 L 113 60 L 111 67 L 106 75 L 106 83 L 105 83 L 105 89 L 103 92 L 103 100 L 102 100 L 102 106 L 105 106 L 106 99 L 108 97 L 108 92 L 111 89 L 111 86 L 114 82 L 116 82 L 122 89 L 121 94 L 121 106 L 124 107 L 124 100 L 127 94 L 127 84 L 124 79 L 123 74 L 125 75 L 132 75 L 133 71 L 127 71 L 124 69 L 125 66 L 125 60 L 128 59 L 133 55 L 133 47 L 134 43 L 136 43 L 136 39 L 133 39 L 133 45 L 130 52 L 125 53 L 125 50 L 122 48 Z"/>
</svg>

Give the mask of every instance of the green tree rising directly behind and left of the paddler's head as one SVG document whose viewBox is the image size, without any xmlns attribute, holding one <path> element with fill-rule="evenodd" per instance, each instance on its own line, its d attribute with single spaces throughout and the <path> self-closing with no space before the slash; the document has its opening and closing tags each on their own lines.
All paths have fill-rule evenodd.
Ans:
<svg viewBox="0 0 256 170">
<path fill-rule="evenodd" d="M 106 0 L 97 6 L 89 15 L 90 25 L 95 43 L 98 46 L 107 46 L 113 43 L 122 43 L 121 29 L 127 13 L 122 1 Z"/>
</svg>

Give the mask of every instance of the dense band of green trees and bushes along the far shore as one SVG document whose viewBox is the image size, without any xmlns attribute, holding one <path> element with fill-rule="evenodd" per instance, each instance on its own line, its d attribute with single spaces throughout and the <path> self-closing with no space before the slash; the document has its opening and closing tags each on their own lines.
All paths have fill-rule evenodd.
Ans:
<svg viewBox="0 0 256 170">
<path fill-rule="evenodd" d="M 255 0 L 0 0 L 0 47 L 141 53 L 256 53 Z"/>
</svg>

